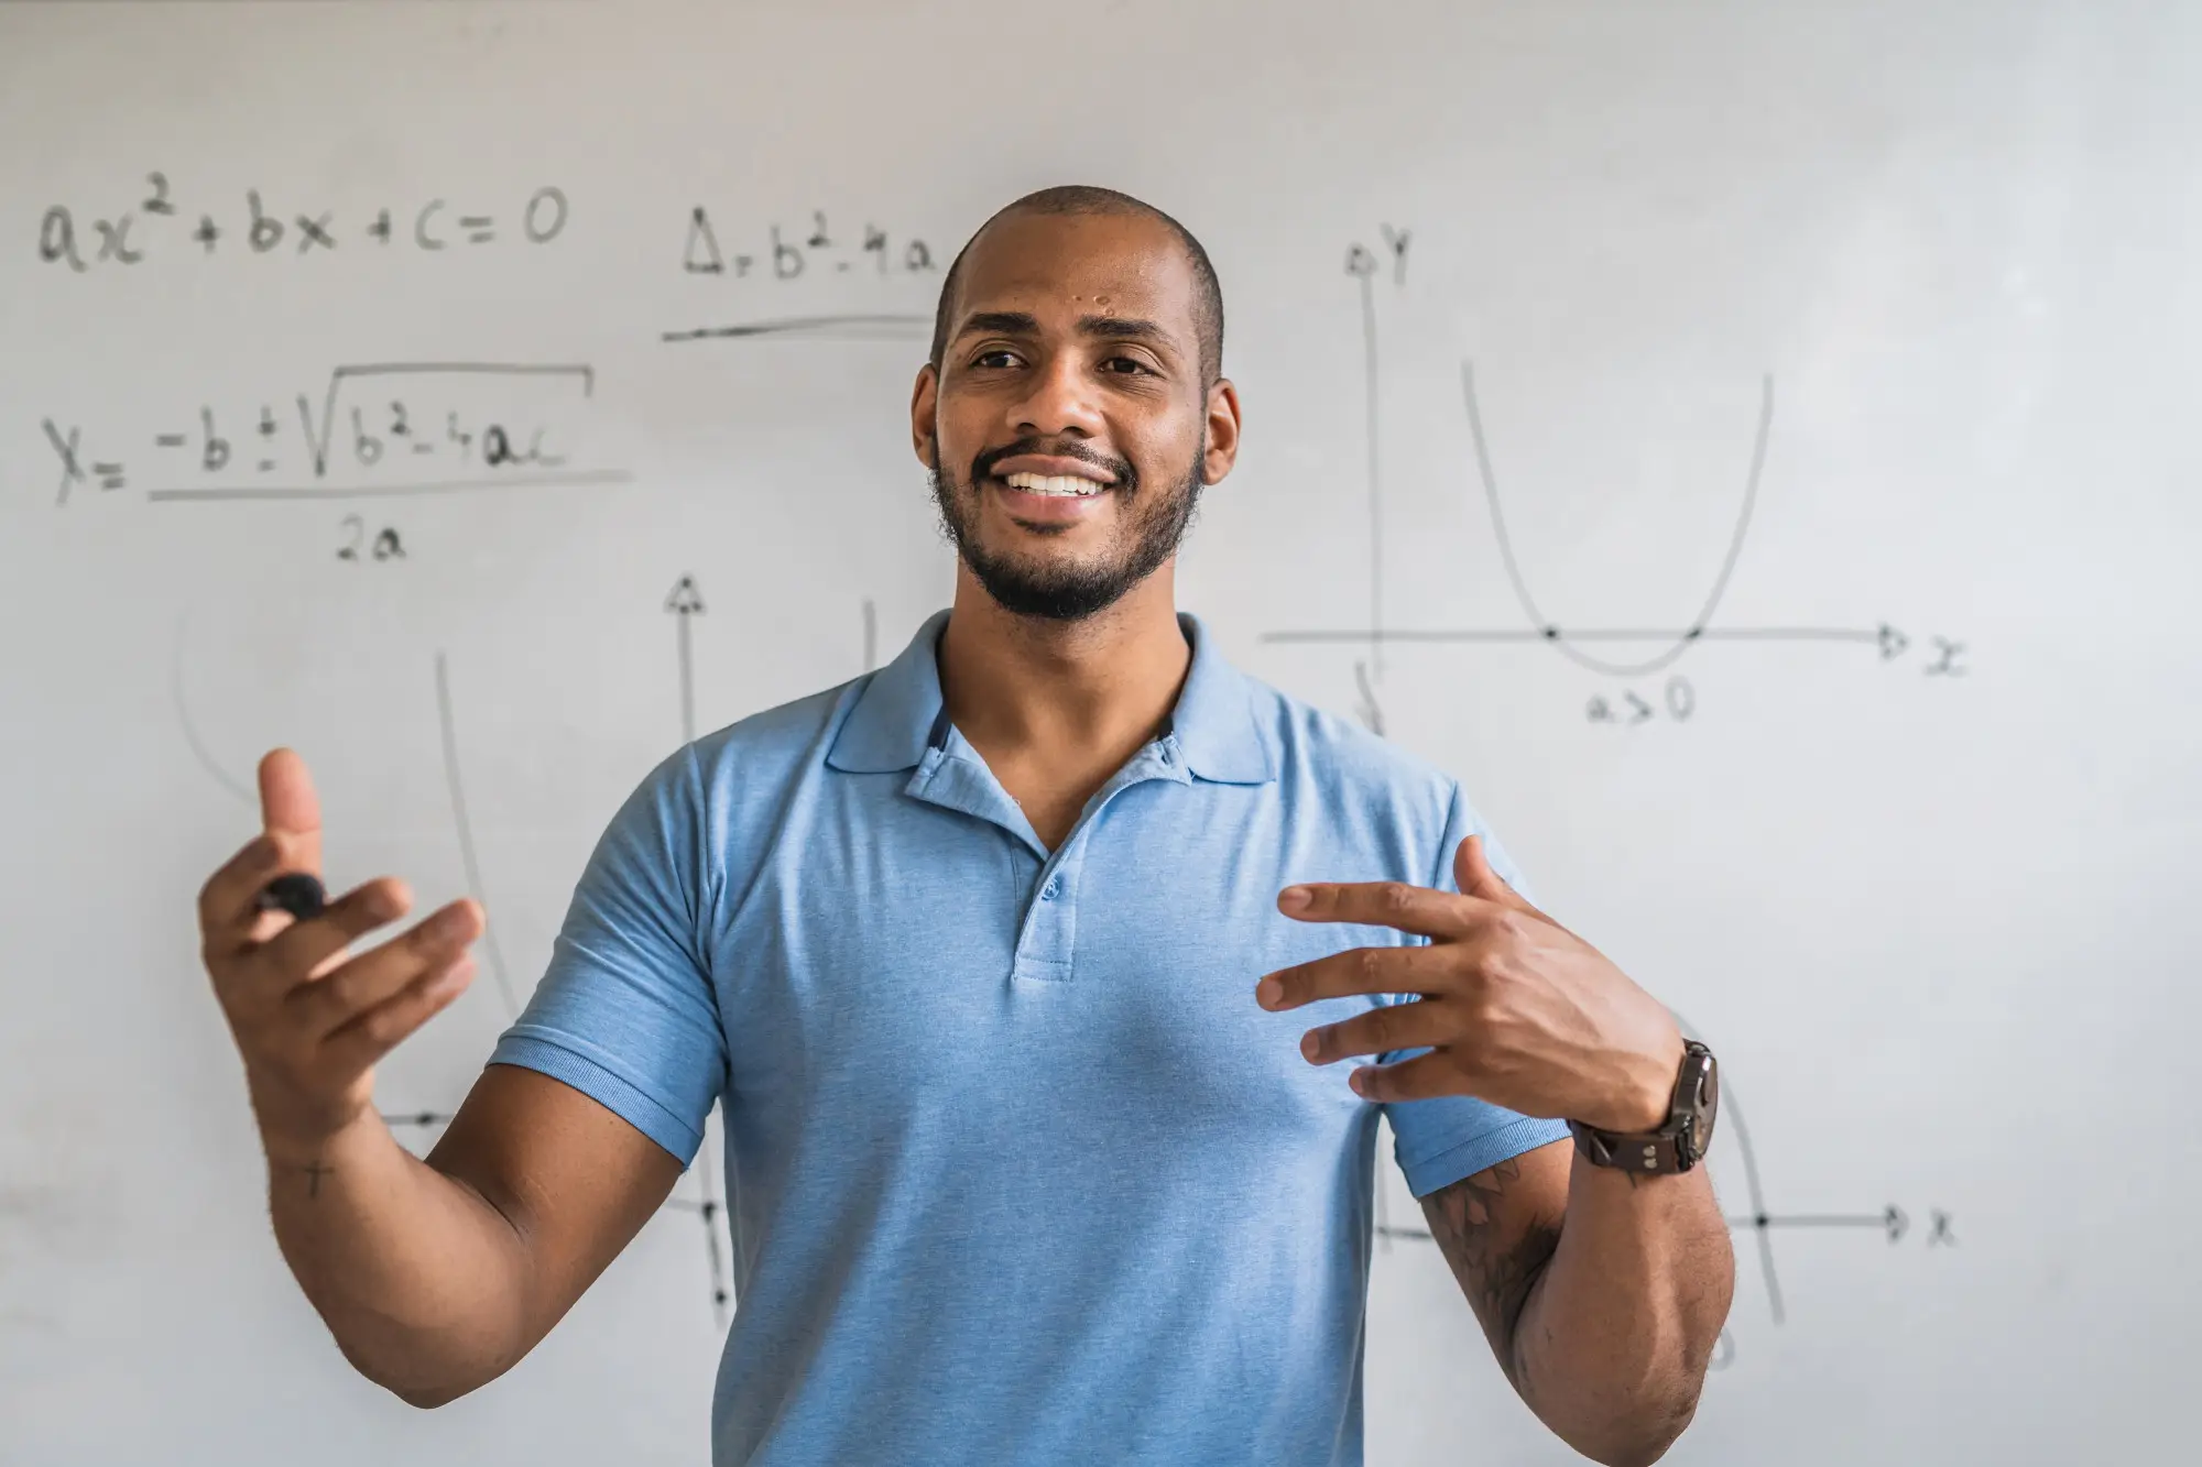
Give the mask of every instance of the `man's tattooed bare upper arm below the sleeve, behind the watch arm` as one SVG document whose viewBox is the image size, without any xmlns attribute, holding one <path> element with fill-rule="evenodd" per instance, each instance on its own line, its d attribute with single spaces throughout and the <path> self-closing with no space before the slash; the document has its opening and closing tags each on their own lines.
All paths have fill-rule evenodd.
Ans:
<svg viewBox="0 0 2202 1467">
<path fill-rule="evenodd" d="M 1574 1145 L 1552 1141 L 1422 1198 L 1429 1234 L 1515 1390 L 1524 1379 L 1515 1326 L 1559 1249 L 1572 1163 Z"/>
</svg>

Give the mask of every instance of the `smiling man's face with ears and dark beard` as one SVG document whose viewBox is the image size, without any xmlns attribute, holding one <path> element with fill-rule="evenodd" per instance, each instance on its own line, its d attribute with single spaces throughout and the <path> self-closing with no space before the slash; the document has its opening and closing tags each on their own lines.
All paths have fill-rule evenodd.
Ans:
<svg viewBox="0 0 2202 1467">
<path fill-rule="evenodd" d="M 1229 471 L 1238 403 L 1202 383 L 1196 304 L 1185 249 L 1143 216 L 1013 214 L 971 244 L 912 432 L 940 522 L 1006 610 L 1112 606 Z"/>
</svg>

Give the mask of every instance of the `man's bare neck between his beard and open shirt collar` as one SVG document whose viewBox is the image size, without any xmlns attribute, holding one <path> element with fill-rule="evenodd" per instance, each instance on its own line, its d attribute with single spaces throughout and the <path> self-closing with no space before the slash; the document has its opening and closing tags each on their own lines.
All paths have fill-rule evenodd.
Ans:
<svg viewBox="0 0 2202 1467">
<path fill-rule="evenodd" d="M 1163 731 L 1191 667 L 1171 570 L 1163 564 L 1083 621 L 1048 621 L 1002 610 L 958 564 L 940 637 L 956 729 L 989 764 L 1099 767 L 1105 778 Z"/>
</svg>

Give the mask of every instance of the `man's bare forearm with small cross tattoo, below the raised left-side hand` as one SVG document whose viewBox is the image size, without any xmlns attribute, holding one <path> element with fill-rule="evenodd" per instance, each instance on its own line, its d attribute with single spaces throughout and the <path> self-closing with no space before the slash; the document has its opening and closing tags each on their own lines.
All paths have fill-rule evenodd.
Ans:
<svg viewBox="0 0 2202 1467">
<path fill-rule="evenodd" d="M 321 1143 L 262 1143 L 275 1242 L 361 1374 L 440 1405 L 524 1352 L 520 1236 L 478 1192 L 372 1110 Z"/>
</svg>

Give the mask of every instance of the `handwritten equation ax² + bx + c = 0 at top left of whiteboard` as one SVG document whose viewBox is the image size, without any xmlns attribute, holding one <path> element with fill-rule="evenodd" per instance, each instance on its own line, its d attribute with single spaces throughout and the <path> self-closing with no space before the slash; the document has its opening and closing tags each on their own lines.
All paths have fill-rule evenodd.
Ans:
<svg viewBox="0 0 2202 1467">
<path fill-rule="evenodd" d="M 440 253 L 504 240 L 548 244 L 573 218 L 566 192 L 555 185 L 544 185 L 524 200 L 504 200 L 517 203 L 504 214 L 495 203 L 478 207 L 480 200 L 427 198 L 346 218 L 337 209 L 284 205 L 260 189 L 244 189 L 242 198 L 187 209 L 174 196 L 167 174 L 152 172 L 126 207 L 106 214 L 79 214 L 59 203 L 48 207 L 37 222 L 37 258 L 81 275 L 174 253 L 313 256 L 337 253 L 346 244 Z M 192 216 L 196 225 L 187 222 Z"/>
</svg>

